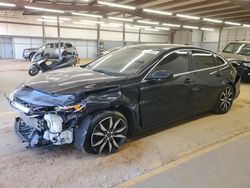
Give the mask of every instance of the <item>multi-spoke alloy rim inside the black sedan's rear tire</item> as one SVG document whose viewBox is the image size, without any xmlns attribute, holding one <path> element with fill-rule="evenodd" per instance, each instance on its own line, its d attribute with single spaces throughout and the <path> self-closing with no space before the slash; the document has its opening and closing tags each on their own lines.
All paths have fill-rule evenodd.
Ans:
<svg viewBox="0 0 250 188">
<path fill-rule="evenodd" d="M 223 111 L 227 111 L 233 101 L 233 91 L 231 87 L 226 87 L 223 92 L 221 93 L 221 98 L 220 98 L 220 108 Z"/>
</svg>

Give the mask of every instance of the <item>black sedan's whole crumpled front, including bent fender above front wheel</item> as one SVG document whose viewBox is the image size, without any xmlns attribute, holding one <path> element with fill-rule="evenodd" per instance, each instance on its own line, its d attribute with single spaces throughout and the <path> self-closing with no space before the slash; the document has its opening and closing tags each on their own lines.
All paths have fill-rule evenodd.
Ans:
<svg viewBox="0 0 250 188">
<path fill-rule="evenodd" d="M 83 149 L 92 113 L 119 106 L 126 98 L 122 97 L 118 87 L 75 96 L 44 93 L 21 86 L 8 100 L 20 112 L 20 117 L 15 120 L 15 130 L 28 147 L 74 143 L 77 149 Z"/>
</svg>

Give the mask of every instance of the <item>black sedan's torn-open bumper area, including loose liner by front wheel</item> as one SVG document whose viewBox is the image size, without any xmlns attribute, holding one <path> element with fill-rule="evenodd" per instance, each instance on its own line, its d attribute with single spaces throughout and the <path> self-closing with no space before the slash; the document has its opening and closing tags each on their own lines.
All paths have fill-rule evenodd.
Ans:
<svg viewBox="0 0 250 188">
<path fill-rule="evenodd" d="M 80 114 L 29 116 L 21 112 L 14 127 L 18 138 L 28 143 L 28 148 L 73 143 L 77 149 L 83 149 L 90 123 L 90 116 Z"/>
</svg>

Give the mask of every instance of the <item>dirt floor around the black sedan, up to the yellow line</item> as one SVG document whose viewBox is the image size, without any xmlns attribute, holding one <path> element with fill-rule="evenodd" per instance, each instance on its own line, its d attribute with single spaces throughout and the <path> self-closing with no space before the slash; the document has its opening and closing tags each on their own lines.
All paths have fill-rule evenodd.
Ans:
<svg viewBox="0 0 250 188">
<path fill-rule="evenodd" d="M 0 62 L 0 187 L 112 187 L 171 161 L 250 131 L 250 84 L 225 115 L 205 114 L 168 129 L 130 138 L 116 154 L 71 146 L 26 149 L 16 140 L 16 113 L 3 97 L 27 79 L 27 62 Z"/>
</svg>

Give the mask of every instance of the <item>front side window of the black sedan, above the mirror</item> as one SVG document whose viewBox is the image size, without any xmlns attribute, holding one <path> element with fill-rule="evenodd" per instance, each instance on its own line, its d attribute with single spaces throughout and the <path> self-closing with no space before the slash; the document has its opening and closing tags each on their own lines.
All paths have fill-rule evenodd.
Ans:
<svg viewBox="0 0 250 188">
<path fill-rule="evenodd" d="M 165 57 L 154 71 L 167 70 L 173 74 L 189 71 L 189 53 L 187 50 L 178 50 Z"/>
</svg>

